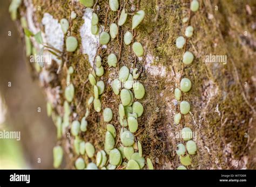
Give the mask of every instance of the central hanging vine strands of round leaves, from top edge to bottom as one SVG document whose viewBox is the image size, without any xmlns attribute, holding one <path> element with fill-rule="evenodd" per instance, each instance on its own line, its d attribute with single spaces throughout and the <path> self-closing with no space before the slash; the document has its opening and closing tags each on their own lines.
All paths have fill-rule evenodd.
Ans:
<svg viewBox="0 0 256 187">
<path fill-rule="evenodd" d="M 112 11 L 117 11 L 119 8 L 119 3 L 117 0 L 109 0 L 110 9 Z M 132 18 L 132 29 L 137 27 L 139 23 L 143 20 L 145 12 L 143 10 L 138 11 Z M 107 32 L 102 32 L 99 36 L 99 42 L 105 45 L 109 42 L 110 37 L 115 39 L 118 34 L 118 26 L 125 24 L 128 14 L 125 8 L 121 11 L 118 23 L 112 23 L 110 25 L 110 36 Z M 130 45 L 133 36 L 130 31 L 124 34 L 125 45 Z M 143 46 L 139 42 L 134 42 L 132 49 L 136 56 L 143 56 Z M 117 57 L 114 53 L 111 53 L 107 57 L 107 63 L 110 67 L 117 66 Z M 134 102 L 134 98 L 141 99 L 145 95 L 145 89 L 143 84 L 134 82 L 134 79 L 139 77 L 138 69 L 135 68 L 133 73 L 130 74 L 129 68 L 123 66 L 119 70 L 119 77 L 114 79 L 112 82 L 112 90 L 116 95 L 121 98 L 121 104 L 119 104 L 119 121 L 122 129 L 120 131 L 120 139 L 122 146 L 115 148 L 115 138 L 116 130 L 113 125 L 107 124 L 107 131 L 105 134 L 104 149 L 107 154 L 109 154 L 109 163 L 111 166 L 108 168 L 116 168 L 117 166 L 126 166 L 126 169 L 141 169 L 145 165 L 145 159 L 142 157 L 142 145 L 138 142 L 139 153 L 134 153 L 134 135 L 133 133 L 138 130 L 137 118 L 142 116 L 144 108 L 139 102 Z M 123 83 L 123 86 L 122 86 Z M 134 92 L 131 91 L 131 89 Z M 109 122 L 112 119 L 112 110 L 105 108 L 103 112 L 103 117 L 105 122 Z M 129 130 L 125 127 L 129 126 Z M 122 162 L 123 159 L 127 159 L 128 163 Z M 147 165 L 150 169 L 153 169 L 153 164 L 150 159 L 147 159 Z"/>
</svg>

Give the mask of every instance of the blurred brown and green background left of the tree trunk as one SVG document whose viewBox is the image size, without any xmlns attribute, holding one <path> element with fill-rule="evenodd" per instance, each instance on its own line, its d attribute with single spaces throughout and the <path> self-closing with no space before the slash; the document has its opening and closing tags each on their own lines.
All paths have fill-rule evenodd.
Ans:
<svg viewBox="0 0 256 187">
<path fill-rule="evenodd" d="M 21 140 L 0 139 L 0 169 L 52 169 L 56 128 L 46 115 L 43 90 L 30 75 L 9 4 L 0 1 L 0 131 L 19 131 Z"/>
</svg>

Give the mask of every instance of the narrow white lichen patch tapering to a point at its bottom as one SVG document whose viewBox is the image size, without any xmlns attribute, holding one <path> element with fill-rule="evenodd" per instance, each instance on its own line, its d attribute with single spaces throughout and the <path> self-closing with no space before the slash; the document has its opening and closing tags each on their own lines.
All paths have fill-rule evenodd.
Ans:
<svg viewBox="0 0 256 187">
<path fill-rule="evenodd" d="M 84 24 L 80 27 L 82 49 L 83 53 L 88 55 L 91 67 L 93 67 L 93 60 L 97 54 L 97 48 L 99 45 L 99 35 L 93 35 L 91 33 L 92 9 L 85 9 L 83 19 Z"/>
</svg>

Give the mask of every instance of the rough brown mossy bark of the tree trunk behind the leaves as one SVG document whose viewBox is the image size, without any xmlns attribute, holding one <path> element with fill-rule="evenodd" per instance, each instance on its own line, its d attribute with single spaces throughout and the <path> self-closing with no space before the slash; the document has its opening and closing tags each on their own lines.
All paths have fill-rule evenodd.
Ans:
<svg viewBox="0 0 256 187">
<path fill-rule="evenodd" d="M 146 94 L 140 99 L 144 114 L 138 118 L 136 139 L 142 143 L 143 156 L 150 157 L 156 169 L 176 169 L 180 165 L 175 150 L 177 143 L 183 140 L 177 134 L 185 126 L 196 134 L 198 146 L 189 169 L 256 169 L 256 2 L 199 1 L 200 8 L 196 13 L 190 12 L 190 1 L 185 0 L 126 2 L 127 11 L 144 10 L 146 13 L 134 34 L 134 40 L 140 41 L 144 47 L 144 56 L 136 59 L 131 45 L 119 46 L 123 34 L 131 31 L 130 15 L 127 23 L 119 27 L 118 39 L 111 39 L 107 47 L 98 50 L 105 70 L 100 77 L 105 83 L 100 100 L 103 107 L 113 110 L 111 124 L 117 132 L 120 130 L 117 115 L 120 97 L 114 95 L 111 82 L 118 76 L 118 70 L 107 66 L 106 56 L 110 53 L 118 56 L 120 52 L 119 67 L 131 68 L 136 63 L 141 72 L 139 81 L 143 83 Z M 106 29 L 118 16 L 118 11 L 107 9 L 108 1 L 97 1 L 95 11 L 99 24 L 105 25 Z M 77 18 L 72 20 L 70 34 L 78 39 L 78 48 L 69 53 L 65 51 L 65 36 L 58 33 L 58 22 L 62 18 L 69 19 L 72 10 L 77 13 Z M 41 30 L 44 41 L 62 51 L 64 64 L 59 74 L 59 64 L 55 60 L 39 72 L 28 62 L 32 75 L 38 77 L 44 89 L 46 100 L 52 103 L 54 113 L 60 116 L 63 115 L 68 67 L 75 69 L 71 76 L 75 98 L 71 103 L 70 121 L 82 119 L 88 107 L 87 100 L 93 94 L 87 76 L 98 44 L 97 37 L 90 37 L 90 30 L 86 30 L 90 25 L 90 13 L 86 12 L 88 9 L 78 1 L 24 0 L 19 8 L 19 15 L 26 18 L 29 29 L 34 33 Z M 187 16 L 190 17 L 189 22 L 183 23 L 182 19 Z M 191 51 L 195 59 L 190 66 L 184 67 L 181 60 L 185 49 L 177 49 L 175 40 L 184 35 L 187 25 L 194 27 L 194 34 L 187 40 L 185 49 Z M 23 30 L 21 35 L 24 37 Z M 32 43 L 39 49 L 35 41 Z M 206 55 L 210 54 L 226 55 L 227 63 L 205 63 Z M 174 125 L 173 117 L 179 109 L 173 92 L 179 87 L 181 77 L 192 81 L 191 91 L 183 93 L 183 99 L 191 103 L 191 113 L 183 116 L 181 124 Z M 88 130 L 80 137 L 93 143 L 96 150 L 103 149 L 106 124 L 103 123 L 102 112 L 97 113 L 90 107 L 87 121 Z M 66 133 L 69 131 L 70 127 Z M 119 133 L 116 141 L 118 137 Z M 57 142 L 65 150 L 66 168 L 73 168 L 78 157 L 72 142 L 73 137 L 66 135 Z"/>
</svg>

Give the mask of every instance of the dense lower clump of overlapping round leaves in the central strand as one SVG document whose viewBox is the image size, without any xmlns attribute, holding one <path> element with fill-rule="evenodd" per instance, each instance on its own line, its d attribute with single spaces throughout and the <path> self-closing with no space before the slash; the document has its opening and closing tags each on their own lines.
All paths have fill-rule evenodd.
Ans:
<svg viewBox="0 0 256 187">
<path fill-rule="evenodd" d="M 141 103 L 134 102 L 134 98 L 142 99 L 145 95 L 143 84 L 134 82 L 134 79 L 139 77 L 137 71 L 138 69 L 134 69 L 131 74 L 129 68 L 123 66 L 119 70 L 119 77 L 112 82 L 112 90 L 116 95 L 120 93 L 122 102 L 118 107 L 119 122 L 122 126 L 120 131 L 122 146 L 118 149 L 114 148 L 114 139 L 108 131 L 105 136 L 105 150 L 106 148 L 112 149 L 110 151 L 110 163 L 121 164 L 122 158 L 126 158 L 128 162 L 123 162 L 126 169 L 142 169 L 145 165 L 145 159 L 142 156 L 142 145 L 139 141 L 137 144 L 134 142 L 133 134 L 138 130 L 137 118 L 142 116 L 144 111 Z M 129 127 L 129 130 L 125 127 Z M 134 152 L 134 146 L 138 148 L 139 153 Z M 149 169 L 153 169 L 153 164 L 149 158 L 147 159 L 147 166 Z"/>
</svg>

